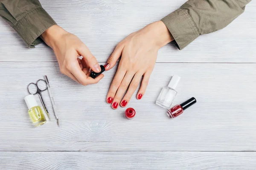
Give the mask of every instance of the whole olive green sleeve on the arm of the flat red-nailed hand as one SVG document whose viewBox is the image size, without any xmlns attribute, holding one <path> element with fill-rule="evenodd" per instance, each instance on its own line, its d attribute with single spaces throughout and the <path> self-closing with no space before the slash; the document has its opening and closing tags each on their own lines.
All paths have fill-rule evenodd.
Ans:
<svg viewBox="0 0 256 170">
<path fill-rule="evenodd" d="M 251 0 L 189 0 L 161 21 L 181 50 L 199 35 L 220 30 L 244 12 Z"/>
</svg>

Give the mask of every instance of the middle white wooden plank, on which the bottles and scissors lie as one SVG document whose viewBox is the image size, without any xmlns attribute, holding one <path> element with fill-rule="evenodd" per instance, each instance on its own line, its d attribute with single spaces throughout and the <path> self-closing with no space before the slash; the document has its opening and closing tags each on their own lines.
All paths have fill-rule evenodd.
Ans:
<svg viewBox="0 0 256 170">
<path fill-rule="evenodd" d="M 96 85 L 82 86 L 59 72 L 56 62 L 0 62 L 0 150 L 2 151 L 255 151 L 256 64 L 157 63 L 143 99 L 132 97 L 136 117 L 105 102 L 116 67 Z M 164 72 L 163 72 L 164 71 Z M 26 85 L 49 77 L 61 128 L 47 92 L 53 121 L 34 128 Z M 180 75 L 174 104 L 194 96 L 198 103 L 169 119 L 154 102 L 172 74 Z M 136 94 L 136 93 L 135 93 Z M 39 99 L 38 99 L 38 103 Z"/>
</svg>

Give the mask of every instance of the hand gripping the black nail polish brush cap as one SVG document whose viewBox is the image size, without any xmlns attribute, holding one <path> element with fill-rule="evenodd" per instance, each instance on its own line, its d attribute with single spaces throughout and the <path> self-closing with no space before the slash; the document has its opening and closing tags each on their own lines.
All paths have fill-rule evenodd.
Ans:
<svg viewBox="0 0 256 170">
<path fill-rule="evenodd" d="M 90 77 L 90 69 L 99 73 L 101 68 L 87 46 L 76 35 L 54 25 L 44 31 L 41 38 L 53 49 L 62 74 L 82 85 L 95 84 L 104 77 L 103 74 L 96 79 Z M 79 59 L 80 56 L 83 58 Z"/>
</svg>

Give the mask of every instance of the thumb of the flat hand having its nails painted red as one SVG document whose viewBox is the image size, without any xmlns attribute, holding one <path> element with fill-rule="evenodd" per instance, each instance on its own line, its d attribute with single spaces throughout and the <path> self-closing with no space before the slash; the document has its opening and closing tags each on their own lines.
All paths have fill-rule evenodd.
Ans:
<svg viewBox="0 0 256 170">
<path fill-rule="evenodd" d="M 121 45 L 120 43 L 116 45 L 115 50 L 111 54 L 111 56 L 108 58 L 107 64 L 106 64 L 106 70 L 110 70 L 113 68 L 113 66 L 116 64 L 116 61 L 121 57 L 122 50 L 124 49 L 125 45 Z"/>
</svg>

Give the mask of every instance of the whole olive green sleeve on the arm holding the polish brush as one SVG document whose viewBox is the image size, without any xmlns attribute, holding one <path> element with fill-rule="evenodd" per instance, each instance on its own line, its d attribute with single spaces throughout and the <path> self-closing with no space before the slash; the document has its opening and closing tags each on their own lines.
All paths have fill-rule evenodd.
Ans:
<svg viewBox="0 0 256 170">
<path fill-rule="evenodd" d="M 43 42 L 39 36 L 56 24 L 38 0 L 0 0 L 0 16 L 29 48 Z"/>
</svg>

